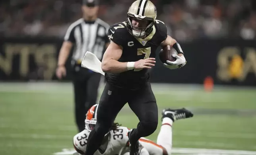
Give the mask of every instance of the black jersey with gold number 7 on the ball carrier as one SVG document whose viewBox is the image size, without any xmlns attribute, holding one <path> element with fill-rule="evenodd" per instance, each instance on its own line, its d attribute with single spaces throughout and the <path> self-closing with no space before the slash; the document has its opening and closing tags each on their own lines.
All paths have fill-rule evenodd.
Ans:
<svg viewBox="0 0 256 155">
<path fill-rule="evenodd" d="M 167 27 L 163 22 L 156 20 L 149 36 L 141 39 L 135 38 L 128 32 L 126 22 L 116 23 L 110 26 L 108 37 L 123 48 L 119 62 L 135 62 L 155 57 L 156 49 L 167 38 Z M 134 69 L 118 74 L 106 73 L 105 78 L 107 82 L 117 87 L 138 89 L 149 80 L 149 70 Z"/>
</svg>

